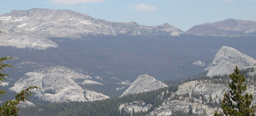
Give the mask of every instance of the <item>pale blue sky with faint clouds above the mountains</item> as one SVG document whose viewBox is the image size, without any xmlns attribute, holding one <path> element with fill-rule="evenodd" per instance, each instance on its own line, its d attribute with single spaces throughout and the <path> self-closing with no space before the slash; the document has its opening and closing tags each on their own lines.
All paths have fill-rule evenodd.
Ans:
<svg viewBox="0 0 256 116">
<path fill-rule="evenodd" d="M 227 18 L 256 20 L 256 0 L 0 0 L 0 14 L 32 8 L 71 10 L 111 22 L 193 25 Z"/>
</svg>

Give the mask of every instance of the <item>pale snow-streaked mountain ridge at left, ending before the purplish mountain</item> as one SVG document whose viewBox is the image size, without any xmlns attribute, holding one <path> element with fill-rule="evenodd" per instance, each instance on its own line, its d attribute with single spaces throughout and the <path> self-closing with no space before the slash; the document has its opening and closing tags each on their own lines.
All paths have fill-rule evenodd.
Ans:
<svg viewBox="0 0 256 116">
<path fill-rule="evenodd" d="M 31 9 L 0 15 L 0 46 L 46 49 L 57 47 L 49 37 L 79 39 L 87 35 L 178 36 L 184 33 L 173 25 L 115 23 L 67 10 Z"/>
</svg>

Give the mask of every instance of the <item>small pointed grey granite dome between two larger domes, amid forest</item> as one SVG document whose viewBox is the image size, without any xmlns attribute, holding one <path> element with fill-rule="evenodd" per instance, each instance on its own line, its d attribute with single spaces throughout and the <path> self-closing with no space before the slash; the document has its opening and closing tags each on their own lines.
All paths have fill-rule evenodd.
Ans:
<svg viewBox="0 0 256 116">
<path fill-rule="evenodd" d="M 155 80 L 154 77 L 144 74 L 137 77 L 132 85 L 126 91 L 124 91 L 120 97 L 139 92 L 154 91 L 164 87 L 168 86 L 165 83 Z"/>
</svg>

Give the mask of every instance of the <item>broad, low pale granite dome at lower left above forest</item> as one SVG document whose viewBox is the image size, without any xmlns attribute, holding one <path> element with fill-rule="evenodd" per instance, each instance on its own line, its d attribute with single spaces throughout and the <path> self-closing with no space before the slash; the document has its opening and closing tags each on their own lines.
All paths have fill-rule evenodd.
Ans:
<svg viewBox="0 0 256 116">
<path fill-rule="evenodd" d="M 41 90 L 34 90 L 34 97 L 50 102 L 94 101 L 109 98 L 102 93 L 84 90 L 75 82 L 75 79 L 88 78 L 91 76 L 56 66 L 27 72 L 10 90 L 19 92 L 29 86 L 38 86 Z"/>
</svg>

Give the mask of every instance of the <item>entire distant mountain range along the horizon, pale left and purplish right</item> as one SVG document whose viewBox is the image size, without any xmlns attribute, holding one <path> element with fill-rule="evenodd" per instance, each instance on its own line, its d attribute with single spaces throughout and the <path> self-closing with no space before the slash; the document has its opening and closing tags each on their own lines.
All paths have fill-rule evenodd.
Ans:
<svg viewBox="0 0 256 116">
<path fill-rule="evenodd" d="M 168 23 L 156 26 L 135 22 L 109 22 L 68 10 L 31 9 L 0 15 L 0 46 L 46 49 L 58 47 L 53 37 L 80 39 L 85 36 L 255 36 L 256 21 L 227 19 L 194 25 L 187 32 Z"/>
</svg>

